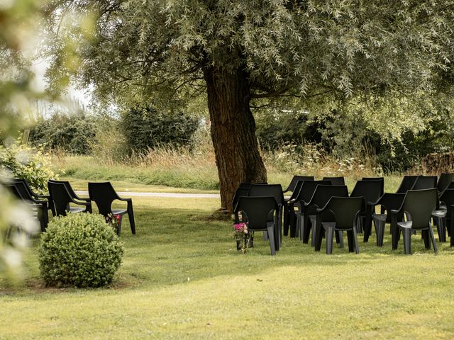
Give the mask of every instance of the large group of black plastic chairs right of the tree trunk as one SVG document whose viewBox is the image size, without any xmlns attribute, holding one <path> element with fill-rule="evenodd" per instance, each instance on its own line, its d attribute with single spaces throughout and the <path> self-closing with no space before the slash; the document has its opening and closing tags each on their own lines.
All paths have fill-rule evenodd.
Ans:
<svg viewBox="0 0 454 340">
<path fill-rule="evenodd" d="M 346 231 L 349 250 L 358 252 L 356 235 L 363 232 L 363 241 L 367 242 L 372 232 L 372 221 L 377 234 L 377 246 L 383 244 L 384 226 L 388 222 L 391 224 L 392 249 L 397 249 L 402 232 L 404 249 L 409 254 L 410 229 L 411 232 L 421 230 L 426 248 L 430 247 L 430 236 L 436 250 L 431 232 L 431 218 L 438 229 L 440 242 L 445 242 L 447 223 L 450 223 L 450 235 L 454 227 L 453 180 L 454 174 L 442 174 L 440 179 L 436 176 L 404 176 L 397 193 L 384 193 L 383 178 L 363 178 L 355 184 L 349 196 L 343 177 L 325 177 L 321 181 L 315 181 L 311 176 L 294 176 L 284 191 L 280 185 L 275 184 L 241 183 L 233 198 L 233 207 L 236 220 L 238 221 L 240 214 L 247 217 L 251 230 L 259 228 L 270 234 L 272 227 L 272 254 L 275 254 L 282 244 L 282 229 L 284 235 L 290 232 L 290 237 L 297 237 L 299 234 L 304 243 L 309 242 L 309 236 L 312 234 L 311 244 L 318 251 L 322 238 L 326 237 L 328 254 L 332 251 L 334 235 L 336 242 L 343 246 L 342 236 Z M 292 195 L 285 199 L 285 192 L 292 192 Z M 274 208 L 265 211 L 265 208 L 260 207 L 264 205 L 270 208 L 270 197 L 274 199 Z M 415 203 L 418 200 L 421 200 L 419 205 Z M 378 214 L 375 213 L 376 206 L 380 206 Z M 411 207 L 416 207 L 416 210 Z M 451 245 L 453 239 L 452 237 Z"/>
</svg>

